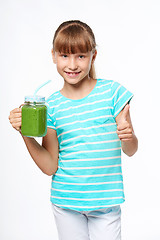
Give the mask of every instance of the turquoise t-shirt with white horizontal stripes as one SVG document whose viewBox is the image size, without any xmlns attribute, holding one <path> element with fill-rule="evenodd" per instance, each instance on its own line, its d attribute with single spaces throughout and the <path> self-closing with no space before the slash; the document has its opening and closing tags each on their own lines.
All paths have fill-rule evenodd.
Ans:
<svg viewBox="0 0 160 240">
<path fill-rule="evenodd" d="M 113 80 L 97 79 L 82 99 L 52 94 L 47 126 L 59 142 L 58 170 L 52 177 L 51 202 L 77 211 L 124 202 L 121 141 L 115 117 L 133 94 Z"/>
</svg>

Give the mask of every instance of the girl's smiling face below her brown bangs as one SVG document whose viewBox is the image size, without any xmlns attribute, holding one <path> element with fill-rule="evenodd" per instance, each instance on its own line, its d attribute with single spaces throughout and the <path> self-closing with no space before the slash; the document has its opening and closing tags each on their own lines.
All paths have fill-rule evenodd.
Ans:
<svg viewBox="0 0 160 240">
<path fill-rule="evenodd" d="M 53 52 L 53 62 L 57 71 L 69 84 L 77 84 L 81 80 L 89 78 L 91 64 L 95 60 L 96 52 L 65 54 Z"/>
</svg>

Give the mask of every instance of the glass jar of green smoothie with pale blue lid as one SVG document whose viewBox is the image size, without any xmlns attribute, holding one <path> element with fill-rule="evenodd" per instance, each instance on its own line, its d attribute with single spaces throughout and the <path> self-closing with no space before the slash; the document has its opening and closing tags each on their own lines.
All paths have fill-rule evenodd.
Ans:
<svg viewBox="0 0 160 240">
<path fill-rule="evenodd" d="M 27 137 L 44 137 L 47 133 L 45 97 L 26 96 L 22 106 L 21 133 Z"/>
</svg>

